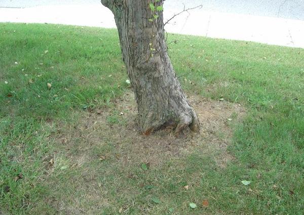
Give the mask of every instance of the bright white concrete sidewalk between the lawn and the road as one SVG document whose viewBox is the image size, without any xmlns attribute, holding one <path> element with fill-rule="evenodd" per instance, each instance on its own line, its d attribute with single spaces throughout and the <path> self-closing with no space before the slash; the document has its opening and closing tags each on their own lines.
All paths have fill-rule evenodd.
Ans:
<svg viewBox="0 0 304 215">
<path fill-rule="evenodd" d="M 169 8 L 169 7 L 168 7 Z M 177 9 L 164 11 L 166 21 Z M 0 22 L 54 23 L 115 28 L 112 13 L 99 5 L 57 5 L 0 8 Z M 304 21 L 193 10 L 165 26 L 171 33 L 256 41 L 304 48 Z"/>
</svg>

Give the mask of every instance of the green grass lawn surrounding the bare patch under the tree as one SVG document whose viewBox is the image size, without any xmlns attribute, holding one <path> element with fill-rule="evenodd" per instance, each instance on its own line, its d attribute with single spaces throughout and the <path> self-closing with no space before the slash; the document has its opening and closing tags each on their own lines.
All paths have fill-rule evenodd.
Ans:
<svg viewBox="0 0 304 215">
<path fill-rule="evenodd" d="M 109 109 L 107 126 L 126 125 L 115 109 L 129 90 L 117 31 L 0 24 L 0 213 L 304 213 L 304 50 L 185 35 L 168 39 L 177 41 L 169 55 L 187 94 L 246 107 L 228 148 L 236 159 L 221 168 L 213 155 L 194 148 L 143 171 L 141 161 L 117 161 L 111 135 L 98 146 L 81 137 L 73 137 L 71 148 L 58 144 L 67 127 L 77 130 L 95 110 Z M 71 156 L 83 153 L 94 159 L 67 168 Z M 102 165 L 101 154 L 109 154 Z M 49 170 L 51 157 L 56 162 Z M 204 199 L 208 207 L 201 205 Z M 191 209 L 191 202 L 198 207 Z"/>
</svg>

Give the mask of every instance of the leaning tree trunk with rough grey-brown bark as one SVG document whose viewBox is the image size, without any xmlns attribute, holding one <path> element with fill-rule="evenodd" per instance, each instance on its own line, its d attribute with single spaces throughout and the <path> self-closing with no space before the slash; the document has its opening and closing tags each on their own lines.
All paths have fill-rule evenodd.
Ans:
<svg viewBox="0 0 304 215">
<path fill-rule="evenodd" d="M 142 132 L 148 135 L 166 124 L 174 125 L 176 133 L 186 127 L 198 131 L 197 114 L 187 102 L 167 53 L 163 11 L 149 7 L 150 3 L 155 8 L 163 4 L 163 0 L 156 2 L 101 0 L 115 16 Z"/>
</svg>

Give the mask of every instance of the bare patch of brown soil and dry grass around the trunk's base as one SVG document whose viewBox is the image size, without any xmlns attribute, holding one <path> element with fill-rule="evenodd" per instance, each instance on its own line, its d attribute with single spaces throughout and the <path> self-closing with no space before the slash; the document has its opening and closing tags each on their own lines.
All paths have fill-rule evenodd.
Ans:
<svg viewBox="0 0 304 215">
<path fill-rule="evenodd" d="M 199 134 L 189 132 L 185 137 L 176 138 L 172 131 L 161 130 L 150 136 L 142 135 L 136 125 L 133 93 L 127 92 L 115 101 L 115 107 L 85 112 L 77 124 L 63 127 L 58 142 L 78 165 L 108 158 L 116 159 L 124 166 L 141 162 L 160 165 L 165 160 L 197 150 L 214 155 L 218 164 L 224 167 L 233 159 L 226 148 L 231 141 L 233 124 L 242 118 L 244 108 L 199 96 L 188 99 L 201 122 Z"/>
</svg>

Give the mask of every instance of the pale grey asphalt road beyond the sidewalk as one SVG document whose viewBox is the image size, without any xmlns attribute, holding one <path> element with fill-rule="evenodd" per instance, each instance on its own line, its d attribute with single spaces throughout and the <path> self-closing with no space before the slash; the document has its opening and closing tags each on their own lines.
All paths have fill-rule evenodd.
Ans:
<svg viewBox="0 0 304 215">
<path fill-rule="evenodd" d="M 100 0 L 0 0 L 0 7 L 7 8 L 95 4 L 99 5 Z M 183 4 L 186 8 L 203 5 L 202 12 L 304 20 L 304 0 L 166 0 L 165 9 L 182 10 Z"/>
</svg>

